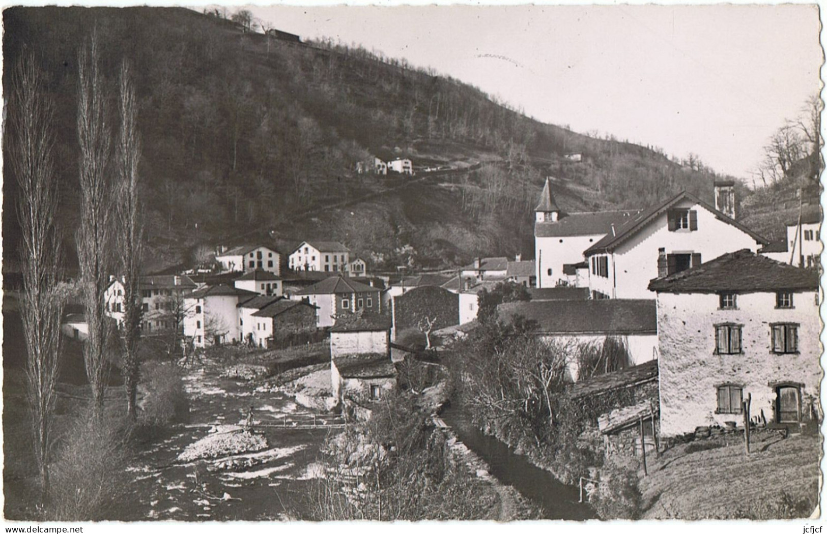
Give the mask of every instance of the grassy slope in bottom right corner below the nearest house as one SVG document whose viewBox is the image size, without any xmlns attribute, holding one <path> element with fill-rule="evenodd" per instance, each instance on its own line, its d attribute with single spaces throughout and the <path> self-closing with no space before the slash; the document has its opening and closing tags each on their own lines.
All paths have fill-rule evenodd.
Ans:
<svg viewBox="0 0 827 534">
<path fill-rule="evenodd" d="M 763 431 L 751 444 L 746 455 L 743 437 L 717 436 L 649 459 L 640 482 L 643 517 L 809 517 L 818 503 L 820 436 Z"/>
</svg>

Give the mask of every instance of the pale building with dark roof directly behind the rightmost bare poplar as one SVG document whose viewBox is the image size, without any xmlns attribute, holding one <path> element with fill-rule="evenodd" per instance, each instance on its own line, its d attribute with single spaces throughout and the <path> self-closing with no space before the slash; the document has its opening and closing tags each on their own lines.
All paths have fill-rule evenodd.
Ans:
<svg viewBox="0 0 827 534">
<path fill-rule="evenodd" d="M 141 276 L 138 288 L 141 291 L 141 331 L 144 335 L 181 327 L 183 319 L 184 294 L 198 287 L 189 276 L 163 274 Z M 112 277 L 109 287 L 103 293 L 106 314 L 118 326 L 123 324 L 123 283 Z"/>
</svg>

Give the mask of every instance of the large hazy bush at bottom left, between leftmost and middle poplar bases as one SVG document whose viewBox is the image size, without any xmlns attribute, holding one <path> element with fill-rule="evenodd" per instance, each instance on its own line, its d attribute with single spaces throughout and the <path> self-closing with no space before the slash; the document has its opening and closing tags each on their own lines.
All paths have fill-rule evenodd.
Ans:
<svg viewBox="0 0 827 534">
<path fill-rule="evenodd" d="M 126 493 L 127 432 L 122 420 L 82 413 L 56 455 L 45 517 L 98 521 Z"/>
</svg>

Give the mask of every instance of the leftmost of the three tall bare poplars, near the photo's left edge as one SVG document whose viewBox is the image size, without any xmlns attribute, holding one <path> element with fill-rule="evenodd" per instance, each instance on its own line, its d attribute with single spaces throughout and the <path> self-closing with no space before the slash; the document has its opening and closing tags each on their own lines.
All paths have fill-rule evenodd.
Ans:
<svg viewBox="0 0 827 534">
<path fill-rule="evenodd" d="M 63 298 L 56 290 L 60 241 L 55 229 L 57 181 L 52 160 L 52 107 L 32 55 L 14 71 L 9 106 L 12 169 L 20 186 L 17 215 L 22 230 L 22 322 L 26 340 L 26 398 L 32 446 L 40 469 L 41 500 L 49 494 L 55 385 L 60 361 Z"/>
</svg>

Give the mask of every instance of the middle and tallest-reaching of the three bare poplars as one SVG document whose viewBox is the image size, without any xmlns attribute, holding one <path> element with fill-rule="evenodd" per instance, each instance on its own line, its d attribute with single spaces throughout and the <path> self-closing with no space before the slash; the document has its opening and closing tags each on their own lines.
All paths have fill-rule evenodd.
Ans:
<svg viewBox="0 0 827 534">
<path fill-rule="evenodd" d="M 78 141 L 80 145 L 80 228 L 77 234 L 80 281 L 88 340 L 84 363 L 98 414 L 103 413 L 109 322 L 104 308 L 110 264 L 111 187 L 108 183 L 110 131 L 98 40 L 93 34 L 88 51 L 78 61 Z"/>
</svg>

